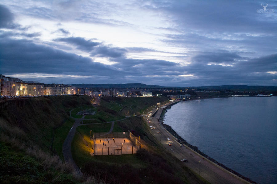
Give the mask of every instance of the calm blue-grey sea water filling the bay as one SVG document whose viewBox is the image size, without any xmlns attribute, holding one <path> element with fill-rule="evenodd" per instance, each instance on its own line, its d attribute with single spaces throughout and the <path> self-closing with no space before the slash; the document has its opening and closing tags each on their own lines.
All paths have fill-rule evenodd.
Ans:
<svg viewBox="0 0 277 184">
<path fill-rule="evenodd" d="M 258 183 L 277 183 L 277 97 L 179 102 L 170 125 L 188 143 Z"/>
</svg>

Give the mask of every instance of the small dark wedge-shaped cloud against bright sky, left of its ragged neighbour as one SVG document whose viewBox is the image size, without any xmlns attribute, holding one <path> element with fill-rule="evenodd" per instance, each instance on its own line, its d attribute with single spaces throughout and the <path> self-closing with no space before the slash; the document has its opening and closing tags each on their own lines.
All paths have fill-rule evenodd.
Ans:
<svg viewBox="0 0 277 184">
<path fill-rule="evenodd" d="M 99 42 L 93 42 L 91 40 L 85 40 L 82 37 L 66 37 L 66 38 L 57 38 L 54 41 L 63 41 L 67 42 L 69 44 L 73 44 L 77 46 L 77 49 L 83 50 L 83 51 L 91 51 L 93 48 L 97 45 L 99 45 Z"/>
</svg>

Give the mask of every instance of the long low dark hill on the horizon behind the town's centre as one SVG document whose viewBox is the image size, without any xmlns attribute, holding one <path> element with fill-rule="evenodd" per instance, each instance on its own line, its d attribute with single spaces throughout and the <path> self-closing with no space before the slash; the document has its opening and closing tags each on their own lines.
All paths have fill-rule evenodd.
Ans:
<svg viewBox="0 0 277 184">
<path fill-rule="evenodd" d="M 72 86 L 81 88 L 161 88 L 163 86 L 147 85 L 142 83 L 128 83 L 128 84 L 72 84 Z"/>
</svg>

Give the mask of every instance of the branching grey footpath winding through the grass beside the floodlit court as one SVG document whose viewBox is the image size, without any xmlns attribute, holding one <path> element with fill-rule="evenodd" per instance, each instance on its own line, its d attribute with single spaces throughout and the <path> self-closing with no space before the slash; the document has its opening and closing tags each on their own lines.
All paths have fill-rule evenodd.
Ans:
<svg viewBox="0 0 277 184">
<path fill-rule="evenodd" d="M 72 109 L 72 110 L 74 110 L 74 109 Z M 72 111 L 72 110 L 71 110 L 71 111 Z M 71 117 L 71 111 L 70 111 L 70 117 Z M 76 132 L 76 128 L 77 128 L 78 126 L 80 126 L 80 125 L 96 125 L 96 124 L 112 123 L 109 132 L 112 132 L 113 129 L 114 129 L 114 122 L 115 122 L 115 121 L 109 121 L 109 122 L 103 122 L 103 123 L 88 123 L 88 124 L 81 124 L 81 122 L 82 122 L 83 120 L 94 120 L 94 119 L 85 119 L 84 117 L 85 117 L 85 115 L 84 115 L 82 118 L 74 118 L 74 117 L 72 117 L 72 118 L 75 120 L 75 122 L 74 122 L 72 128 L 70 129 L 70 131 L 68 132 L 67 137 L 66 137 L 66 139 L 65 139 L 65 141 L 64 141 L 64 143 L 63 143 L 63 145 L 62 145 L 62 154 L 63 154 L 63 157 L 64 157 L 65 162 L 67 162 L 67 163 L 72 163 L 72 164 L 74 165 L 74 168 L 75 168 L 76 170 L 80 170 L 80 168 L 79 168 L 79 167 L 76 165 L 76 163 L 74 162 L 74 160 L 73 160 L 73 158 L 72 158 L 72 152 L 71 152 L 71 143 L 72 143 L 72 140 L 73 140 L 73 138 L 74 138 L 74 135 L 75 135 L 75 132 Z M 122 121 L 122 120 L 125 120 L 125 119 L 127 119 L 127 118 L 129 118 L 129 117 L 125 117 L 125 118 L 123 118 L 123 119 L 121 119 L 121 120 L 116 120 L 116 121 Z"/>
</svg>

